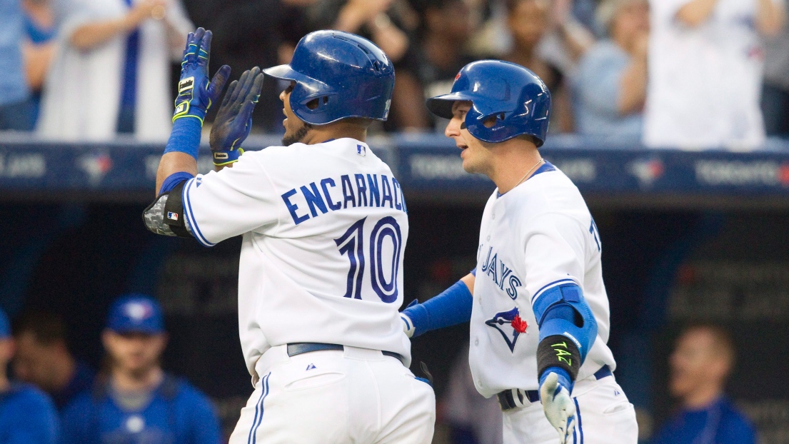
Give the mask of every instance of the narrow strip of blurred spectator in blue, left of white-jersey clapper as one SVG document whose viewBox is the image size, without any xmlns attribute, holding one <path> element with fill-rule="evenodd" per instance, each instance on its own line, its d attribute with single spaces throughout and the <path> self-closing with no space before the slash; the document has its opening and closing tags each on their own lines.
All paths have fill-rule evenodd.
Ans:
<svg viewBox="0 0 789 444">
<path fill-rule="evenodd" d="M 24 73 L 32 91 L 33 121 L 36 121 L 41 103 L 41 90 L 54 54 L 57 29 L 54 27 L 54 13 L 50 8 L 50 0 L 22 0 L 22 9 L 24 9 L 26 36 L 22 45 Z"/>
</svg>

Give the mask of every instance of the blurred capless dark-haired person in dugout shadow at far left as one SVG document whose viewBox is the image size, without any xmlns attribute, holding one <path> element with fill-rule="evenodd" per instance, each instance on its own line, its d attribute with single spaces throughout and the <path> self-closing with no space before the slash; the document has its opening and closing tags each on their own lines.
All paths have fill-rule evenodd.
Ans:
<svg viewBox="0 0 789 444">
<path fill-rule="evenodd" d="M 58 410 L 93 385 L 94 372 L 69 352 L 63 320 L 48 313 L 27 313 L 13 329 L 17 378 L 46 391 Z"/>
</svg>

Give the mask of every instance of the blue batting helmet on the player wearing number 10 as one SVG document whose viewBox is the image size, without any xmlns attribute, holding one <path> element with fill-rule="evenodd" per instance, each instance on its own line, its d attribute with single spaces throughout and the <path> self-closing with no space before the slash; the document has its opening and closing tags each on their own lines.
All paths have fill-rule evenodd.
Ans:
<svg viewBox="0 0 789 444">
<path fill-rule="evenodd" d="M 290 107 L 302 121 L 323 125 L 342 118 L 387 120 L 394 65 L 379 47 L 358 35 L 316 31 L 296 45 L 290 65 L 264 69 L 296 82 Z M 317 106 L 307 106 L 317 99 Z"/>
</svg>

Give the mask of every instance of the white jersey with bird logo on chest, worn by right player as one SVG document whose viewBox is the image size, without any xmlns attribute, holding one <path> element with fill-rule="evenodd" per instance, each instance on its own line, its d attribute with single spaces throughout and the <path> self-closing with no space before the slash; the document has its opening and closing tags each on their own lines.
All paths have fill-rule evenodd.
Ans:
<svg viewBox="0 0 789 444">
<path fill-rule="evenodd" d="M 485 205 L 477 250 L 469 364 L 477 390 L 537 390 L 540 332 L 532 309 L 546 290 L 575 283 L 597 321 L 597 338 L 578 380 L 604 364 L 609 311 L 600 267 L 600 235 L 578 188 L 550 163 Z"/>
</svg>

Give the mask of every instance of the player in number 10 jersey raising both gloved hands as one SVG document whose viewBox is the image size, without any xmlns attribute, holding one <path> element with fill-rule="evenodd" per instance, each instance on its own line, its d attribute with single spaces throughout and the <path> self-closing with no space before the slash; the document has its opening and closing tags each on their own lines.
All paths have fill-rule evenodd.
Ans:
<svg viewBox="0 0 789 444">
<path fill-rule="evenodd" d="M 219 171 L 196 175 L 202 118 L 227 75 L 208 81 L 210 43 L 201 28 L 189 35 L 144 219 L 205 246 L 242 235 L 239 330 L 255 391 L 230 443 L 431 442 L 435 395 L 408 369 L 398 314 L 406 202 L 365 142 L 387 118 L 391 61 L 357 35 L 306 35 L 290 65 L 264 70 L 287 84 L 283 146 L 240 149 L 263 79 L 252 69 L 211 131 Z"/>
</svg>

